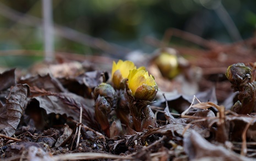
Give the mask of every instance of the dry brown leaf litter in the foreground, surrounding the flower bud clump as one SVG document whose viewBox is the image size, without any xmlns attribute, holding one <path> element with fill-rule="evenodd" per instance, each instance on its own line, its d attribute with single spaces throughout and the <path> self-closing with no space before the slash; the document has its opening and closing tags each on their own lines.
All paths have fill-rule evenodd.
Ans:
<svg viewBox="0 0 256 161">
<path fill-rule="evenodd" d="M 120 120 L 108 117 L 112 137 L 107 137 L 95 119 L 95 101 L 91 92 L 101 82 L 110 81 L 111 64 L 109 69 L 103 70 L 93 70 L 92 66 L 83 66 L 83 62 L 74 61 L 74 64 L 79 69 L 72 66 L 69 70 L 70 60 L 67 64 L 62 60 L 59 66 L 51 66 L 48 69 L 54 76 L 50 73 L 32 75 L 30 71 L 28 75 L 20 76 L 15 74 L 15 69 L 0 75 L 1 159 L 256 158 L 255 108 L 247 115 L 232 112 L 230 109 L 235 104 L 237 95 L 229 89 L 230 84 L 226 87 L 228 89 L 223 89 L 230 91 L 225 99 L 217 97 L 216 92 L 220 92 L 220 89 L 216 91 L 214 85 L 207 90 L 198 90 L 193 96 L 189 95 L 190 92 L 182 92 L 184 90 L 181 86 L 186 84 L 184 77 L 181 85 L 181 78 L 169 80 L 155 76 L 156 81 L 159 79 L 159 82 L 168 84 L 168 88 L 164 88 L 164 84 L 159 85 L 160 91 L 151 104 L 158 126 L 138 132 Z M 63 66 L 65 73 L 59 70 Z M 255 63 L 250 63 L 250 66 L 254 69 Z M 153 67 L 149 66 L 149 72 L 155 68 Z M 74 71 L 77 73 L 74 74 Z M 252 71 L 255 75 L 255 69 Z M 35 69 L 33 73 L 36 73 Z M 205 80 L 207 79 L 201 79 Z M 188 85 L 191 85 L 189 81 Z M 225 104 L 229 104 L 228 107 Z"/>
</svg>

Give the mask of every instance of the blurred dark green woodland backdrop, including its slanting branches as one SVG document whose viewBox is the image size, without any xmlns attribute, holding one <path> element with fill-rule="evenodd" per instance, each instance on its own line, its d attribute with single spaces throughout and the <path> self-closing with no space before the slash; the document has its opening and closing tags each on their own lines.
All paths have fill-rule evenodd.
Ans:
<svg viewBox="0 0 256 161">
<path fill-rule="evenodd" d="M 54 0 L 53 46 L 57 53 L 124 58 L 156 47 L 170 28 L 206 40 L 233 43 L 255 35 L 256 1 L 252 0 Z M 52 11 L 52 12 L 51 12 Z M 43 60 L 43 1 L 0 1 L 0 65 L 27 67 Z M 168 42 L 195 47 L 182 37 Z"/>
</svg>

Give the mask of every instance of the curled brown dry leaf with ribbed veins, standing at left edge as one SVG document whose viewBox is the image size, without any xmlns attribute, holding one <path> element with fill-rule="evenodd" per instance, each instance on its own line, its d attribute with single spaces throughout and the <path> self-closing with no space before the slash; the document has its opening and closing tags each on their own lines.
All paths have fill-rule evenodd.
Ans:
<svg viewBox="0 0 256 161">
<path fill-rule="evenodd" d="M 29 86 L 16 85 L 10 91 L 6 104 L 0 108 L 1 133 L 12 136 L 18 127 L 20 118 L 24 112 L 25 99 L 29 95 Z"/>
</svg>

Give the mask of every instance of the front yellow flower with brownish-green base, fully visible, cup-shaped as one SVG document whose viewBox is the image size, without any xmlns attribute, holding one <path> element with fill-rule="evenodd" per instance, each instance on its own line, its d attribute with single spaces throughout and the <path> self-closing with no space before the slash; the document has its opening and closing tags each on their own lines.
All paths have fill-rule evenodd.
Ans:
<svg viewBox="0 0 256 161">
<path fill-rule="evenodd" d="M 128 87 L 132 91 L 134 98 L 153 101 L 158 87 L 152 75 L 148 71 L 133 69 L 128 75 Z"/>
</svg>

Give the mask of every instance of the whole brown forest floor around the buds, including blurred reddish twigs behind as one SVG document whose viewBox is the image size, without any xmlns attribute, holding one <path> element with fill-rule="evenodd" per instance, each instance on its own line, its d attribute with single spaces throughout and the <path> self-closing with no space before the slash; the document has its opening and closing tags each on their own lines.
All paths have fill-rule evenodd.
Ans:
<svg viewBox="0 0 256 161">
<path fill-rule="evenodd" d="M 157 125 L 141 131 L 119 118 L 118 106 L 102 116 L 106 122 L 95 116 L 92 92 L 102 82 L 112 85 L 116 59 L 57 54 L 56 63 L 7 69 L 0 75 L 1 160 L 255 159 L 255 98 L 244 99 L 254 101 L 249 113 L 231 110 L 239 91 L 225 76 L 228 66 L 244 63 L 256 80 L 255 38 L 204 47 L 172 46 L 178 74 L 171 79 L 155 62 L 167 48 L 127 56 L 145 66 L 160 89 L 150 103 Z"/>
</svg>

